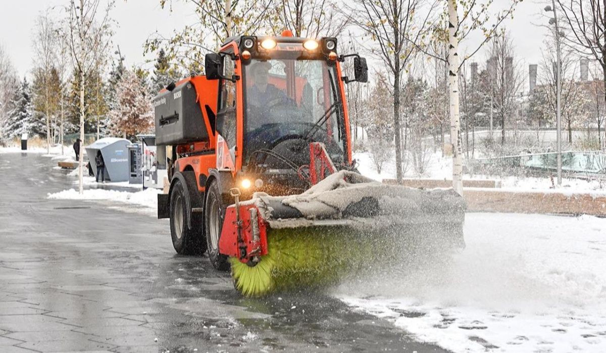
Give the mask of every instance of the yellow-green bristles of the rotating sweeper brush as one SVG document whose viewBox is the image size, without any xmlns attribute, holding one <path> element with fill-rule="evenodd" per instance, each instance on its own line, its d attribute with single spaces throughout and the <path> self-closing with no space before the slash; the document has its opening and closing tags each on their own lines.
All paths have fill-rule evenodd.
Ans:
<svg viewBox="0 0 606 353">
<path fill-rule="evenodd" d="M 270 230 L 267 255 L 256 266 L 230 258 L 234 285 L 245 297 L 260 297 L 338 283 L 372 256 L 376 249 L 369 238 L 353 237 L 350 229 L 335 226 Z"/>
</svg>

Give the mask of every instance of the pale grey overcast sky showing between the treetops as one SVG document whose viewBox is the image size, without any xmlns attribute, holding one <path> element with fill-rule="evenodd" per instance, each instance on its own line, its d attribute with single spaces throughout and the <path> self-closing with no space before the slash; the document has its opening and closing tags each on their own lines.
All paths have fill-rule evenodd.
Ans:
<svg viewBox="0 0 606 353">
<path fill-rule="evenodd" d="M 496 0 L 495 2 L 503 5 L 509 1 Z M 24 2 L 27 2 L 27 6 Z M 49 7 L 68 4 L 68 1 L 0 0 L 0 3 L 2 4 L 0 44 L 9 53 L 19 75 L 29 75 L 33 62 L 32 36 L 36 16 L 44 13 Z M 547 21 L 539 15 L 542 7 L 544 7 L 542 0 L 525 0 L 516 9 L 513 21 L 507 22 L 507 28 L 514 38 L 517 55 L 524 67 L 541 61 L 545 30 L 535 24 Z M 61 8 L 56 7 L 52 11 L 59 15 Z M 191 7 L 183 5 L 181 1 L 175 1 L 173 13 L 170 13 L 167 9 L 160 8 L 159 0 L 117 0 L 116 7 L 112 10 L 112 17 L 117 22 L 113 44 L 115 48 L 119 45 L 127 66 L 136 64 L 147 68 L 153 64 L 145 64 L 146 60 L 153 57 L 144 58 L 142 46 L 151 33 L 157 30 L 164 35 L 170 35 L 173 30 L 179 30 L 184 24 L 195 21 Z M 465 44 L 461 54 L 463 55 L 464 52 Z M 482 62 L 484 59 L 483 53 L 474 57 L 474 61 Z"/>
</svg>

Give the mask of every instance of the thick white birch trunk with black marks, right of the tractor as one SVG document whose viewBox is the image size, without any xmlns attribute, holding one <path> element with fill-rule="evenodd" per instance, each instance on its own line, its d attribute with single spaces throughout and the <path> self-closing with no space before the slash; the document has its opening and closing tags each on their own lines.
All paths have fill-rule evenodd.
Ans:
<svg viewBox="0 0 606 353">
<path fill-rule="evenodd" d="M 453 189 L 463 194 L 461 121 L 459 120 L 459 16 L 456 0 L 448 0 L 448 83 L 450 90 L 450 143 L 453 150 Z"/>
</svg>

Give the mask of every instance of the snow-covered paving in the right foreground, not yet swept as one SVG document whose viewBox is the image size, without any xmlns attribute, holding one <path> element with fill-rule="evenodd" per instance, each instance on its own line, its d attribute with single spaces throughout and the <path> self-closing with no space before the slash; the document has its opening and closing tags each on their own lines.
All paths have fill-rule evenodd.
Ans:
<svg viewBox="0 0 606 353">
<path fill-rule="evenodd" d="M 606 219 L 468 213 L 450 261 L 336 295 L 453 352 L 606 351 Z"/>
</svg>

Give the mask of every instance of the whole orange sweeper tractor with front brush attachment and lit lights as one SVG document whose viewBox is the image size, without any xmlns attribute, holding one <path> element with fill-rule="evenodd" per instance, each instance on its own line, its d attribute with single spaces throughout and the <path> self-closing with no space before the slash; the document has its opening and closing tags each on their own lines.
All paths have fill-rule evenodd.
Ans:
<svg viewBox="0 0 606 353">
<path fill-rule="evenodd" d="M 350 60 L 353 78 L 341 67 Z M 170 218 L 175 250 L 208 252 L 216 269 L 231 267 L 239 291 L 262 295 L 338 280 L 346 261 L 330 262 L 342 249 L 382 251 L 370 249 L 381 243 L 368 243 L 371 230 L 422 234 L 431 223 L 462 243 L 456 193 L 384 186 L 357 173 L 345 84 L 367 82 L 367 71 L 359 55 L 339 55 L 336 38 L 286 31 L 228 38 L 205 56 L 205 75 L 162 90 L 153 105 L 168 178 L 158 217 Z"/>
</svg>

